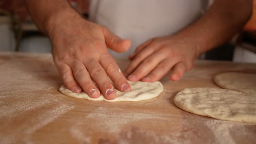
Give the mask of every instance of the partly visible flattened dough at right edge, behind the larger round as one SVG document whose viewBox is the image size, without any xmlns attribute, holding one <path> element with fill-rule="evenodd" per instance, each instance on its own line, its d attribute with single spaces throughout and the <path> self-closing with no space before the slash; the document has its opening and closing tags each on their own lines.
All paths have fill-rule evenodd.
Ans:
<svg viewBox="0 0 256 144">
<path fill-rule="evenodd" d="M 214 81 L 222 88 L 256 94 L 256 74 L 223 73 L 216 75 Z"/>
</svg>

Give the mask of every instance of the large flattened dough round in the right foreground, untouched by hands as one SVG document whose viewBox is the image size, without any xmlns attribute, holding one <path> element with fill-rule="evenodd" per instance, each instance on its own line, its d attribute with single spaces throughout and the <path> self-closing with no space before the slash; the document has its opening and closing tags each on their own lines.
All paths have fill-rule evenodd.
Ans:
<svg viewBox="0 0 256 144">
<path fill-rule="evenodd" d="M 201 116 L 256 123 L 256 94 L 220 88 L 187 88 L 174 97 L 174 104 Z"/>
</svg>

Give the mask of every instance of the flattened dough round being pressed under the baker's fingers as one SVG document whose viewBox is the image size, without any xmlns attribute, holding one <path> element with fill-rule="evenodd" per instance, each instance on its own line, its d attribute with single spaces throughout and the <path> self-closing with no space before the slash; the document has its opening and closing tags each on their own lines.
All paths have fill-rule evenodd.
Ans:
<svg viewBox="0 0 256 144">
<path fill-rule="evenodd" d="M 117 91 L 117 98 L 113 100 L 107 100 L 103 97 L 101 94 L 100 97 L 93 99 L 90 98 L 89 95 L 87 95 L 85 92 L 82 93 L 73 93 L 72 91 L 69 91 L 65 87 L 65 85 L 62 85 L 60 87 L 60 92 L 68 95 L 69 97 L 74 97 L 74 98 L 81 98 L 81 99 L 88 99 L 88 100 L 104 100 L 104 101 L 141 101 L 141 100 L 148 100 L 157 97 L 162 91 L 163 91 L 163 86 L 162 83 L 159 81 L 156 82 L 131 82 L 129 81 L 131 85 L 131 92 L 120 92 L 116 89 Z"/>
</svg>

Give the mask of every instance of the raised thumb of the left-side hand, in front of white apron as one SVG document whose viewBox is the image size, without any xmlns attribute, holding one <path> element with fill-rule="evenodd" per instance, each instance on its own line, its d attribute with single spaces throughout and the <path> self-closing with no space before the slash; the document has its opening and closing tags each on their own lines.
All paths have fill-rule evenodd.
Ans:
<svg viewBox="0 0 256 144">
<path fill-rule="evenodd" d="M 110 32 L 109 29 L 104 26 L 101 26 L 101 29 L 104 34 L 105 43 L 107 47 L 109 47 L 113 51 L 125 52 L 130 48 L 131 40 L 129 39 L 122 40 L 120 37 Z"/>
</svg>

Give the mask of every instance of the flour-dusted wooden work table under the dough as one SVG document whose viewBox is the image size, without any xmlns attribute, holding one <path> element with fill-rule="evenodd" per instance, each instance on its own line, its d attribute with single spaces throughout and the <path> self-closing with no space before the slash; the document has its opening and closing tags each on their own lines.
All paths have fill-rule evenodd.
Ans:
<svg viewBox="0 0 256 144">
<path fill-rule="evenodd" d="M 129 61 L 117 59 L 124 70 Z M 256 125 L 219 121 L 173 104 L 184 88 L 217 87 L 216 74 L 256 64 L 197 61 L 164 92 L 139 102 L 89 101 L 59 92 L 50 53 L 0 53 L 0 143 L 256 143 Z"/>
</svg>

